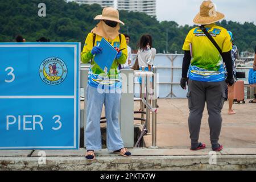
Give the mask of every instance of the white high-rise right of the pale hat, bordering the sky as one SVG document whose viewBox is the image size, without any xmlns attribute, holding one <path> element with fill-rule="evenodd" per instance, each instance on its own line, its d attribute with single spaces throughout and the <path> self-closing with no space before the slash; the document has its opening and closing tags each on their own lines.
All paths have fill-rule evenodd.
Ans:
<svg viewBox="0 0 256 182">
<path fill-rule="evenodd" d="M 156 0 L 117 0 L 118 10 L 138 11 L 156 16 Z"/>
</svg>

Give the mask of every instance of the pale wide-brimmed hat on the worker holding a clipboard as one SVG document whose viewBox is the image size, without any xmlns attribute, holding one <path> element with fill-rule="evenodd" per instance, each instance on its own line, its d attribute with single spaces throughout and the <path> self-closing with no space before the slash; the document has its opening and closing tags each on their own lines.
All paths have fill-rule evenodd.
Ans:
<svg viewBox="0 0 256 182">
<path fill-rule="evenodd" d="M 105 7 L 102 11 L 102 15 L 97 15 L 94 19 L 96 20 L 110 20 L 118 23 L 123 23 L 121 20 L 119 20 L 119 12 L 117 9 L 114 9 L 114 7 Z"/>
</svg>

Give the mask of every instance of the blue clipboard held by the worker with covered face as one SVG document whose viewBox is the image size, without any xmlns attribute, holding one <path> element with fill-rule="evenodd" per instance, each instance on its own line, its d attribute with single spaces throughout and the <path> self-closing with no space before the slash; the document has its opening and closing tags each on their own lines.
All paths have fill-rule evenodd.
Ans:
<svg viewBox="0 0 256 182">
<path fill-rule="evenodd" d="M 104 38 L 101 39 L 100 44 L 97 46 L 101 47 L 102 51 L 101 53 L 98 53 L 94 56 L 94 61 L 106 74 L 108 74 L 115 60 L 115 57 L 117 56 L 117 51 Z"/>
</svg>

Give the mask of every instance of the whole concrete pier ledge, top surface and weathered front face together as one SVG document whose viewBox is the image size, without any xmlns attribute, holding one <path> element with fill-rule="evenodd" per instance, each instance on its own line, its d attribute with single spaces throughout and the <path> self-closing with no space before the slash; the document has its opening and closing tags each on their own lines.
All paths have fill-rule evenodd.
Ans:
<svg viewBox="0 0 256 182">
<path fill-rule="evenodd" d="M 97 152 L 93 162 L 85 159 L 85 149 L 42 151 L 0 151 L 0 170 L 255 170 L 256 148 L 226 148 L 212 156 L 210 148 L 133 148 L 130 158 Z M 44 164 L 44 159 L 46 164 Z M 210 162 L 210 163 L 209 163 Z"/>
</svg>

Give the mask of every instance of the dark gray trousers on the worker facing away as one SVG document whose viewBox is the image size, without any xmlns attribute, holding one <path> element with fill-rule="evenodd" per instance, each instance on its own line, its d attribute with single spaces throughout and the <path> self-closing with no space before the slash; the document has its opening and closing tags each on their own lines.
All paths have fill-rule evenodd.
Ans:
<svg viewBox="0 0 256 182">
<path fill-rule="evenodd" d="M 205 102 L 207 103 L 209 114 L 210 142 L 212 145 L 218 144 L 222 123 L 221 110 L 225 99 L 225 86 L 225 81 L 188 81 L 187 97 L 190 110 L 188 126 L 192 146 L 195 146 L 199 142 L 201 119 L 203 117 Z"/>
</svg>

